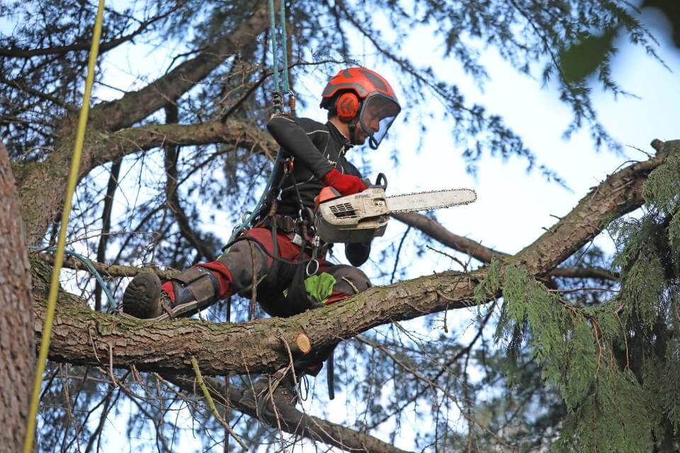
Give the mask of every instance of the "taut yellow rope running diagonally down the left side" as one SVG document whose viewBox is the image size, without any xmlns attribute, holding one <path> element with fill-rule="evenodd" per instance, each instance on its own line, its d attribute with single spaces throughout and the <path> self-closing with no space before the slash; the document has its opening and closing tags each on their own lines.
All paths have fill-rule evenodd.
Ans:
<svg viewBox="0 0 680 453">
<path fill-rule="evenodd" d="M 28 423 L 26 425 L 26 437 L 23 442 L 23 453 L 33 451 L 33 438 L 35 437 L 35 425 L 38 420 L 38 406 L 40 406 L 40 386 L 42 384 L 42 373 L 45 372 L 45 362 L 47 362 L 47 351 L 50 350 L 50 336 L 52 336 L 52 321 L 55 318 L 55 306 L 57 305 L 57 293 L 59 292 L 59 274 L 64 263 L 64 246 L 66 245 L 66 231 L 69 226 L 69 216 L 71 214 L 71 202 L 73 193 L 78 182 L 78 171 L 80 167 L 80 156 L 83 151 L 85 141 L 85 127 L 87 125 L 87 115 L 90 110 L 90 94 L 92 92 L 92 82 L 94 81 L 94 64 L 97 61 L 99 51 L 99 39 L 101 38 L 101 23 L 103 21 L 104 0 L 99 0 L 97 17 L 94 22 L 94 33 L 92 34 L 92 45 L 90 47 L 90 57 L 87 64 L 87 78 L 85 81 L 85 93 L 83 96 L 83 106 L 80 109 L 78 120 L 78 132 L 76 144 L 73 149 L 71 161 L 71 172 L 66 190 L 66 200 L 64 201 L 64 211 L 62 212 L 62 222 L 59 231 L 59 241 L 57 242 L 57 253 L 55 255 L 55 268 L 52 271 L 52 282 L 50 282 L 50 295 L 47 297 L 47 310 L 45 311 L 45 326 L 42 328 L 42 338 L 40 340 L 40 352 L 38 353 L 38 364 L 35 367 L 35 380 L 33 382 L 33 395 L 30 399 L 30 412 L 28 413 Z M 45 181 L 47 184 L 47 181 Z"/>
</svg>

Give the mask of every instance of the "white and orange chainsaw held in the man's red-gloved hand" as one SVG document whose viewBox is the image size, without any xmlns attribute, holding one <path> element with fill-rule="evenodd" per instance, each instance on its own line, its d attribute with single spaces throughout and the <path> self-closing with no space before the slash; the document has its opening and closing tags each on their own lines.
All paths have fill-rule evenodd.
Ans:
<svg viewBox="0 0 680 453">
<path fill-rule="evenodd" d="M 467 205 L 477 200 L 471 189 L 432 190 L 387 197 L 387 178 L 378 174 L 375 184 L 364 180 L 367 189 L 342 196 L 324 187 L 314 199 L 314 228 L 326 243 L 366 242 L 385 234 L 390 214 L 435 210 L 441 207 Z"/>
</svg>

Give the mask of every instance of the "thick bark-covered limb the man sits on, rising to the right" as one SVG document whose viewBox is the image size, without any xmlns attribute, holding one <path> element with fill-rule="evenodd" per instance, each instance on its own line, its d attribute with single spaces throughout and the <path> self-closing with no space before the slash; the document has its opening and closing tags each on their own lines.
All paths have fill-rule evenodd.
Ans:
<svg viewBox="0 0 680 453">
<path fill-rule="evenodd" d="M 613 218 L 642 205 L 642 185 L 680 141 L 667 142 L 655 158 L 630 165 L 591 190 L 577 207 L 534 243 L 509 258 L 535 277 L 550 273 Z M 162 372 L 190 372 L 195 356 L 205 374 L 272 372 L 288 363 L 285 343 L 295 351 L 295 336 L 304 332 L 314 348 L 356 336 L 370 328 L 424 314 L 475 304 L 474 289 L 485 269 L 448 272 L 374 287 L 344 302 L 306 311 L 288 319 L 262 319 L 239 324 L 213 324 L 176 319 L 153 323 L 107 316 L 86 307 L 61 305 L 50 358 L 60 362 L 97 364 L 108 357 L 116 367 Z M 35 305 L 40 336 L 44 307 Z M 96 353 L 97 352 L 97 353 Z"/>
</svg>

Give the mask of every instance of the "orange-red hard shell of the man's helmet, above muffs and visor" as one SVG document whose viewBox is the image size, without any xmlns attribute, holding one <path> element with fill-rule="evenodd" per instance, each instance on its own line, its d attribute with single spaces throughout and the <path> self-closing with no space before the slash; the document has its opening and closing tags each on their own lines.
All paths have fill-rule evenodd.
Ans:
<svg viewBox="0 0 680 453">
<path fill-rule="evenodd" d="M 321 108 L 329 107 L 331 99 L 339 91 L 353 91 L 359 99 L 365 99 L 372 93 L 380 93 L 387 98 L 392 98 L 395 103 L 399 103 L 395 91 L 385 80 L 385 77 L 362 67 L 342 69 L 338 74 L 331 77 L 321 94 L 321 105 L 319 106 Z"/>
</svg>

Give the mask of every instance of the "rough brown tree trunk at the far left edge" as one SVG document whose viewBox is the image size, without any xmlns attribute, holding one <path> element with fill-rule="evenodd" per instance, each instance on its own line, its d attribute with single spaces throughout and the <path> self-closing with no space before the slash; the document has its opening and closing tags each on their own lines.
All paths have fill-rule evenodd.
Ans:
<svg viewBox="0 0 680 453">
<path fill-rule="evenodd" d="M 30 273 L 18 197 L 0 142 L 0 446 L 21 452 L 33 389 L 35 347 Z"/>
</svg>

